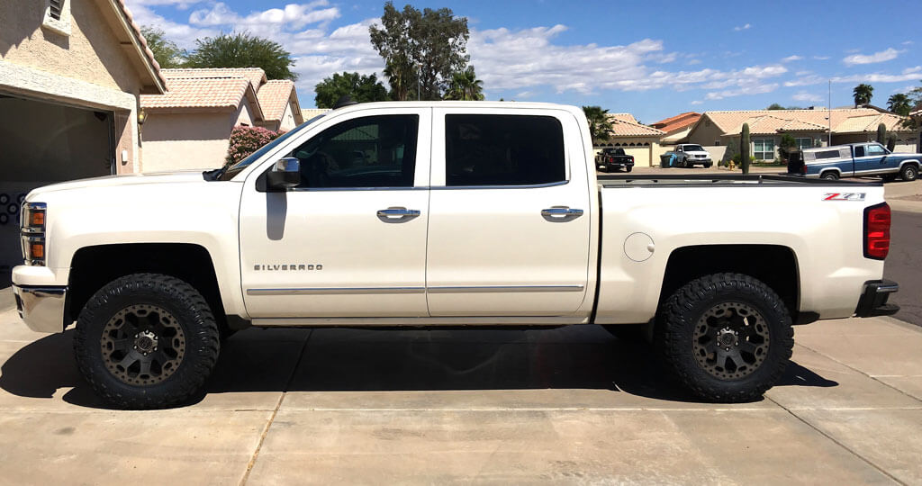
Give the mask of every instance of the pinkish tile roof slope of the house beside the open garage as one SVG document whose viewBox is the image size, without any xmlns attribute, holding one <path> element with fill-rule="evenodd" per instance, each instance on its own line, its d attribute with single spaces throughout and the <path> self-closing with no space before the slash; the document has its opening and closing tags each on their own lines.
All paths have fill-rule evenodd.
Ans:
<svg viewBox="0 0 922 486">
<path fill-rule="evenodd" d="M 167 78 L 167 92 L 142 94 L 141 108 L 237 108 L 250 86 L 240 77 Z"/>
</svg>

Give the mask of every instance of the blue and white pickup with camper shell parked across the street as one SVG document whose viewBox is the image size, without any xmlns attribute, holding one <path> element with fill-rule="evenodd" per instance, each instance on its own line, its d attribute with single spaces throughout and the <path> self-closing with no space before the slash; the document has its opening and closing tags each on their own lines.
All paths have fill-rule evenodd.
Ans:
<svg viewBox="0 0 922 486">
<path fill-rule="evenodd" d="M 792 160 L 788 172 L 831 181 L 864 176 L 915 181 L 922 165 L 922 154 L 892 153 L 876 142 L 804 148 L 799 159 Z"/>
</svg>

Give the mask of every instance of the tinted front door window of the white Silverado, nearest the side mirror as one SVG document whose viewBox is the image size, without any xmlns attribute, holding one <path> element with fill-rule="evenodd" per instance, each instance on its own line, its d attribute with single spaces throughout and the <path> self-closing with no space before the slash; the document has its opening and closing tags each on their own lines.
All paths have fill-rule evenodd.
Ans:
<svg viewBox="0 0 922 486">
<path fill-rule="evenodd" d="M 331 126 L 289 157 L 301 161 L 298 187 L 412 187 L 420 117 L 367 116 Z"/>
</svg>

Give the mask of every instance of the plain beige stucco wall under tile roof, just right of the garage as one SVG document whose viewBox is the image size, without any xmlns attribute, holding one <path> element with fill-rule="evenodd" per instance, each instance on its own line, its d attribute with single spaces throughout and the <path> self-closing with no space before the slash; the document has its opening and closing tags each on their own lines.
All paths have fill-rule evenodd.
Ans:
<svg viewBox="0 0 922 486">
<path fill-rule="evenodd" d="M 253 126 L 245 101 L 235 112 L 148 113 L 142 128 L 143 172 L 218 169 L 224 165 L 231 130 Z"/>
</svg>

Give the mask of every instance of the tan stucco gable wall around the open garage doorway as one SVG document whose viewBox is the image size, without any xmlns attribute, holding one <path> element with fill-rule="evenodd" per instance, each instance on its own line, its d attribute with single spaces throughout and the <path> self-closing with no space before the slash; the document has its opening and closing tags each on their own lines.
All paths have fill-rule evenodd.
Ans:
<svg viewBox="0 0 922 486">
<path fill-rule="evenodd" d="M 94 0 L 67 0 L 70 34 L 64 35 L 42 27 L 44 12 L 41 1 L 0 2 L 0 90 L 114 112 L 117 171 L 136 172 L 142 82 L 109 14 Z"/>
</svg>

